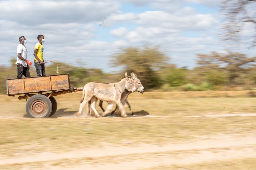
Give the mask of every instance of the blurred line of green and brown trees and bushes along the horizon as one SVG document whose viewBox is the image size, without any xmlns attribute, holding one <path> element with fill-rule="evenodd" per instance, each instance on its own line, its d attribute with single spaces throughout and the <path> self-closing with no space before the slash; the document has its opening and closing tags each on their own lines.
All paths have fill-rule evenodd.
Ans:
<svg viewBox="0 0 256 170">
<path fill-rule="evenodd" d="M 193 69 L 178 68 L 159 47 L 125 48 L 112 56 L 112 66 L 122 67 L 118 74 L 104 73 L 100 69 L 89 69 L 58 63 L 59 74 L 69 74 L 72 87 L 82 87 L 91 81 L 113 83 L 125 71 L 135 72 L 146 91 L 205 91 L 205 90 L 250 90 L 256 88 L 256 57 L 227 51 L 197 54 L 197 66 Z M 0 66 L 0 93 L 6 94 L 6 79 L 16 78 L 16 59 L 12 66 Z M 31 76 L 36 76 L 34 67 Z M 46 67 L 47 75 L 57 74 L 52 63 Z"/>
</svg>

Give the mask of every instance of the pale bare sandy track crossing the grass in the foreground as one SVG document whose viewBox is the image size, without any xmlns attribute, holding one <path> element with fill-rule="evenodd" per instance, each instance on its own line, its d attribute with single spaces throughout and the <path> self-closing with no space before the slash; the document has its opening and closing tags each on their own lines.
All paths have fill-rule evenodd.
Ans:
<svg viewBox="0 0 256 170">
<path fill-rule="evenodd" d="M 255 116 L 256 114 L 236 114 L 235 116 Z M 231 116 L 231 115 L 207 115 L 207 116 Z M 233 115 L 234 116 L 234 115 Z M 154 117 L 154 116 L 152 116 Z M 63 117 L 65 118 L 65 117 Z M 66 117 L 71 118 L 71 117 Z M 74 117 L 75 118 L 75 117 Z M 65 159 L 98 158 L 98 157 L 123 157 L 129 154 L 146 154 L 145 159 L 132 159 L 120 162 L 83 162 L 71 166 L 52 166 L 50 162 Z M 0 166 L 14 163 L 43 162 L 43 165 L 34 169 L 48 170 L 132 170 L 152 168 L 165 165 L 187 165 L 207 161 L 228 160 L 233 158 L 255 158 L 256 136 L 255 134 L 237 136 L 202 136 L 183 143 L 168 143 L 166 145 L 138 144 L 137 147 L 116 147 L 106 145 L 104 148 L 85 150 L 73 150 L 72 152 L 42 152 L 30 155 L 17 155 L 13 158 L 1 158 Z M 23 168 L 22 170 L 25 170 Z M 31 168 L 30 168 L 31 169 Z"/>
</svg>

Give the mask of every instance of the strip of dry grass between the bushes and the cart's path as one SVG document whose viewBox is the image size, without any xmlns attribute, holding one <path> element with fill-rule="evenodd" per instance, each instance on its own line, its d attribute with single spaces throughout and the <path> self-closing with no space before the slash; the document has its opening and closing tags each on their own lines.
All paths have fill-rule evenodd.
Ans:
<svg viewBox="0 0 256 170">
<path fill-rule="evenodd" d="M 133 111 L 144 110 L 156 116 L 189 116 L 223 113 L 254 113 L 256 91 L 202 91 L 202 92 L 135 92 L 129 95 Z M 26 100 L 0 95 L 0 117 L 26 117 Z M 75 116 L 79 109 L 81 92 L 55 96 L 57 116 Z M 106 102 L 104 107 L 106 108 Z M 97 110 L 102 113 L 98 107 Z M 83 110 L 84 113 L 86 109 Z M 83 115 L 82 115 L 83 116 Z"/>
</svg>

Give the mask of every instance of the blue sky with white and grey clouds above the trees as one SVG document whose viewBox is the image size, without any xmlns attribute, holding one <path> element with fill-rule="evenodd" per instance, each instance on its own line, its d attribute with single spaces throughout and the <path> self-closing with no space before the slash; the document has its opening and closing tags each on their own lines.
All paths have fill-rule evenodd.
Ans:
<svg viewBox="0 0 256 170">
<path fill-rule="evenodd" d="M 25 36 L 27 59 L 34 61 L 37 36 L 45 36 L 44 61 L 99 68 L 117 73 L 110 59 L 121 49 L 159 47 L 170 64 L 193 69 L 197 54 L 238 50 L 254 56 L 245 44 L 220 42 L 222 0 L 0 0 L 0 65 L 16 58 Z M 246 27 L 244 35 L 249 36 Z M 245 38 L 246 39 L 246 38 Z M 51 63 L 46 63 L 47 64 Z M 46 68 L 47 72 L 47 68 Z"/>
</svg>

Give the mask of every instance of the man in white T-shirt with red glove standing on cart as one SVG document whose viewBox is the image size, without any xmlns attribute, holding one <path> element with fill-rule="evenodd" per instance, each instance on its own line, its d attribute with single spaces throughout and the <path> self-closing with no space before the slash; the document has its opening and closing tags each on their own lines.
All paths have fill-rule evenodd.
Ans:
<svg viewBox="0 0 256 170">
<path fill-rule="evenodd" d="M 17 47 L 17 78 L 22 78 L 22 75 L 25 77 L 30 77 L 30 72 L 29 72 L 29 66 L 31 66 L 31 61 L 27 60 L 27 48 L 25 44 L 27 43 L 27 40 L 24 36 L 20 36 L 19 38 L 20 44 Z"/>
</svg>

